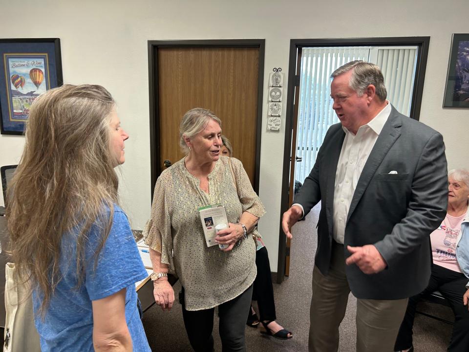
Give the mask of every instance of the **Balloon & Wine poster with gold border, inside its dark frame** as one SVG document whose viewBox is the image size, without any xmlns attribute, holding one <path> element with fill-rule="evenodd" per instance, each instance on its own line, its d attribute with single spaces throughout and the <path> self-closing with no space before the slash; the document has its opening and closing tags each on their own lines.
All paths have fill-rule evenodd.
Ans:
<svg viewBox="0 0 469 352">
<path fill-rule="evenodd" d="M 25 121 L 34 99 L 50 88 L 47 54 L 5 54 L 4 60 L 9 120 Z"/>
</svg>

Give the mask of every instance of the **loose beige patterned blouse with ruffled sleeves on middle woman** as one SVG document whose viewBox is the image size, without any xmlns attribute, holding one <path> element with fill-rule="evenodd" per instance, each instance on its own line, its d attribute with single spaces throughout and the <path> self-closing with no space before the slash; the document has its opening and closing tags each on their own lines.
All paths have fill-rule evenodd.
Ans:
<svg viewBox="0 0 469 352">
<path fill-rule="evenodd" d="M 260 218 L 264 206 L 254 192 L 242 163 L 220 156 L 208 175 L 209 194 L 184 165 L 184 158 L 161 173 L 156 181 L 151 217 L 144 237 L 161 253 L 185 289 L 187 310 L 209 309 L 243 293 L 256 278 L 256 243 L 252 236 L 224 252 L 207 247 L 198 208 L 221 203 L 229 222 L 236 223 L 244 211 Z M 234 177 L 235 176 L 235 179 Z M 236 185 L 235 185 L 236 180 Z M 237 194 L 236 194 L 237 188 Z M 257 230 L 253 234 L 258 236 Z"/>
</svg>

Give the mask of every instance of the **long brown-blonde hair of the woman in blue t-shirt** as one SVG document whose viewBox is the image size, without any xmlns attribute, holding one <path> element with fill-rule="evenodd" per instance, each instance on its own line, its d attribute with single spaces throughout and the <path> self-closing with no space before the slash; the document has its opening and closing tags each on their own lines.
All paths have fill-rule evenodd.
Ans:
<svg viewBox="0 0 469 352">
<path fill-rule="evenodd" d="M 62 280 L 62 237 L 78 232 L 80 286 L 91 226 L 96 225 L 101 239 L 95 265 L 109 234 L 118 203 L 115 157 L 109 147 L 114 105 L 101 86 L 64 85 L 46 91 L 31 106 L 23 154 L 8 187 L 7 219 L 18 279 L 42 291 L 43 316 Z"/>
</svg>

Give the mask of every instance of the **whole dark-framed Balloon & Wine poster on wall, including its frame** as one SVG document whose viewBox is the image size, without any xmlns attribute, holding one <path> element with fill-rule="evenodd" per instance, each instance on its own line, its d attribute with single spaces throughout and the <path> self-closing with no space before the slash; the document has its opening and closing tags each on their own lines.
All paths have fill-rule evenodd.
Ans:
<svg viewBox="0 0 469 352">
<path fill-rule="evenodd" d="M 1 134 L 23 134 L 33 101 L 61 85 L 59 38 L 0 39 Z"/>
</svg>

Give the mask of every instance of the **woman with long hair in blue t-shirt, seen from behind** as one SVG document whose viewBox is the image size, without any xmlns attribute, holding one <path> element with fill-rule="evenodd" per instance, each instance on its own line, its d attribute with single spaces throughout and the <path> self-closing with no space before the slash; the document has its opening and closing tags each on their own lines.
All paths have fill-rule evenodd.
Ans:
<svg viewBox="0 0 469 352">
<path fill-rule="evenodd" d="M 7 216 L 43 352 L 150 351 L 135 291 L 147 272 L 117 205 L 127 138 L 101 86 L 64 85 L 31 106 Z"/>
</svg>

